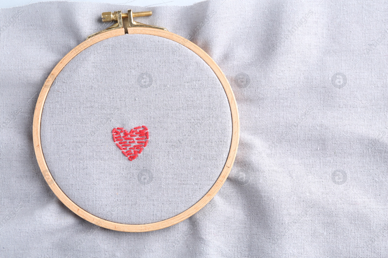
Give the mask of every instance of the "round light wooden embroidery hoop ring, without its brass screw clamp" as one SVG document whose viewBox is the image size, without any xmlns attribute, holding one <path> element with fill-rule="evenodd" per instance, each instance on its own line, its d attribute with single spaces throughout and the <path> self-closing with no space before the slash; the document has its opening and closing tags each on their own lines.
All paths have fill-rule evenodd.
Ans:
<svg viewBox="0 0 388 258">
<path fill-rule="evenodd" d="M 54 178 L 52 177 L 49 171 L 49 168 L 47 167 L 45 158 L 43 157 L 42 144 L 40 142 L 40 121 L 42 118 L 43 105 L 45 103 L 47 94 L 49 93 L 50 87 L 54 82 L 55 78 L 57 77 L 59 72 L 61 72 L 61 70 L 65 67 L 65 65 L 67 65 L 70 62 L 70 60 L 74 58 L 74 56 L 78 55 L 81 51 L 85 50 L 89 46 L 92 46 L 93 44 L 99 41 L 112 38 L 115 36 L 124 35 L 124 34 L 125 34 L 125 30 L 124 28 L 122 28 L 122 29 L 115 29 L 112 31 L 103 32 L 92 38 L 89 38 L 83 41 L 78 46 L 76 46 L 73 50 L 71 50 L 54 67 L 49 77 L 43 84 L 42 90 L 40 91 L 40 94 L 38 97 L 38 101 L 36 102 L 34 121 L 33 121 L 34 149 L 35 149 L 35 155 L 36 155 L 36 159 L 38 160 L 40 170 L 42 171 L 42 174 L 46 179 L 47 183 L 49 184 L 51 190 L 55 193 L 55 195 L 59 198 L 59 200 L 61 200 L 61 202 L 64 203 L 64 205 L 66 205 L 75 214 L 77 214 L 78 216 L 80 216 L 85 220 L 88 220 L 89 222 L 96 224 L 97 226 L 105 227 L 107 229 L 126 231 L 126 232 L 153 231 L 153 230 L 163 229 L 165 227 L 172 226 L 174 224 L 177 224 L 178 222 L 181 222 L 182 220 L 187 219 L 191 215 L 195 214 L 198 210 L 203 208 L 206 205 L 206 203 L 208 203 L 211 200 L 211 198 L 215 196 L 218 190 L 220 190 L 221 186 L 223 185 L 227 176 L 229 175 L 230 170 L 232 169 L 232 165 L 236 157 L 237 145 L 239 142 L 239 130 L 240 130 L 239 115 L 237 111 L 236 99 L 234 98 L 234 94 L 232 92 L 232 88 L 230 87 L 228 80 L 226 79 L 225 75 L 221 71 L 220 67 L 218 67 L 218 65 L 213 61 L 213 59 L 211 59 L 211 57 L 208 54 L 206 54 L 205 51 L 199 48 L 199 46 L 197 46 L 196 44 L 192 43 L 191 41 L 185 38 L 182 38 L 181 36 L 178 36 L 177 34 L 174 34 L 168 31 L 163 31 L 160 29 L 152 29 L 152 28 L 136 28 L 136 27 L 128 28 L 128 34 L 154 35 L 154 36 L 171 39 L 179 44 L 182 44 L 183 46 L 189 48 L 191 51 L 196 53 L 210 66 L 213 72 L 217 75 L 218 79 L 220 80 L 223 86 L 223 89 L 225 90 L 225 93 L 227 95 L 229 105 L 230 105 L 230 111 L 232 113 L 232 142 L 230 144 L 229 155 L 220 176 L 218 177 L 215 184 L 210 188 L 208 193 L 206 193 L 206 195 L 203 196 L 201 200 L 195 203 L 192 207 L 188 208 L 184 212 L 174 217 L 171 217 L 170 219 L 166 219 L 166 220 L 162 220 L 162 221 L 154 222 L 150 224 L 142 224 L 142 225 L 120 224 L 120 223 L 111 222 L 109 220 L 104 220 L 99 217 L 96 217 L 88 213 L 87 211 L 83 210 L 82 208 L 78 207 L 78 205 L 76 205 L 72 200 L 69 199 L 68 196 L 65 195 L 65 193 L 61 190 L 61 188 L 59 188 L 57 183 L 54 181 Z"/>
</svg>

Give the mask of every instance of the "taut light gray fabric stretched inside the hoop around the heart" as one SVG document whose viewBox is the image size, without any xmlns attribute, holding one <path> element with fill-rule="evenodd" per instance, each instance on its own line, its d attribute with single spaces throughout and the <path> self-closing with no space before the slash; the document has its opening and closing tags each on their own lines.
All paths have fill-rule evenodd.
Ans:
<svg viewBox="0 0 388 258">
<path fill-rule="evenodd" d="M 141 125 L 149 143 L 129 161 L 112 129 Z M 124 224 L 165 220 L 199 201 L 217 181 L 232 137 L 228 99 L 211 68 L 170 39 L 139 34 L 73 58 L 49 91 L 41 126 L 62 191 Z"/>
</svg>

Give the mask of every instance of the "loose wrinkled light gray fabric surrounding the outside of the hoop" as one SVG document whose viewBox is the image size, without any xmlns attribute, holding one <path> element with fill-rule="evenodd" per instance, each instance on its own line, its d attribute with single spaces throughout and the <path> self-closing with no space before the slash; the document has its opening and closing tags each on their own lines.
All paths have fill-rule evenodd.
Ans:
<svg viewBox="0 0 388 258">
<path fill-rule="evenodd" d="M 232 172 L 202 210 L 159 231 L 111 231 L 64 207 L 33 152 L 36 98 L 55 64 L 106 26 L 100 12 L 130 7 L 146 10 L 0 10 L 1 257 L 388 256 L 386 1 L 151 7 L 138 21 L 191 39 L 232 84 Z"/>
</svg>

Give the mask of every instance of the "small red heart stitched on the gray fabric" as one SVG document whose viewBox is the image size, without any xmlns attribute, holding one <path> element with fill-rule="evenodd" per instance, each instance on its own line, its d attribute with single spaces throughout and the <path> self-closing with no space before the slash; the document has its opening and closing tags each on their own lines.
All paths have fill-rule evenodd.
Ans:
<svg viewBox="0 0 388 258">
<path fill-rule="evenodd" d="M 148 128 L 144 125 L 134 127 L 128 132 L 122 127 L 113 128 L 113 142 L 125 157 L 133 161 L 148 144 Z"/>
</svg>

